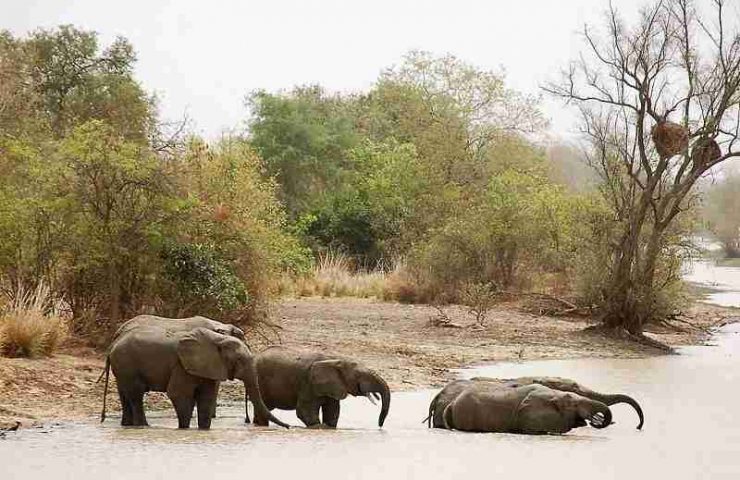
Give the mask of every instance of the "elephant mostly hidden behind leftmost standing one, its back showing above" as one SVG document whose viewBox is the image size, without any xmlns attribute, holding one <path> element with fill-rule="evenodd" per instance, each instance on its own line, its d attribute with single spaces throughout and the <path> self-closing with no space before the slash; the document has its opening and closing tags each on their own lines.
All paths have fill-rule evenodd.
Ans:
<svg viewBox="0 0 740 480">
<path fill-rule="evenodd" d="M 217 333 L 221 333 L 223 335 L 230 335 L 232 337 L 238 338 L 241 341 L 245 341 L 244 338 L 244 331 L 237 327 L 236 325 L 231 325 L 229 323 L 222 323 L 217 320 L 211 320 L 210 318 L 201 317 L 201 316 L 195 316 L 195 317 L 187 317 L 187 318 L 167 318 L 167 317 L 159 317 L 156 315 L 138 315 L 125 323 L 123 323 L 120 327 L 118 327 L 118 330 L 116 330 L 116 333 L 113 334 L 113 339 L 111 340 L 111 346 L 116 343 L 116 340 L 120 338 L 123 334 L 128 333 L 132 330 L 135 330 L 137 328 L 160 328 L 162 330 L 168 331 L 168 332 L 187 332 L 189 330 L 192 330 L 194 328 L 206 328 L 208 330 L 212 330 Z M 108 365 L 107 365 L 107 358 L 106 358 L 106 368 L 103 370 L 103 374 L 107 372 Z M 103 374 L 100 375 L 100 378 L 98 378 L 98 382 L 102 379 Z M 218 390 L 218 385 L 216 386 L 216 389 Z M 244 399 L 246 401 L 247 394 L 245 393 Z M 211 413 L 211 416 L 215 418 L 216 416 L 216 404 L 213 404 L 213 412 Z M 105 420 L 105 404 L 103 404 L 103 412 L 100 415 L 100 421 L 103 422 Z"/>
</svg>

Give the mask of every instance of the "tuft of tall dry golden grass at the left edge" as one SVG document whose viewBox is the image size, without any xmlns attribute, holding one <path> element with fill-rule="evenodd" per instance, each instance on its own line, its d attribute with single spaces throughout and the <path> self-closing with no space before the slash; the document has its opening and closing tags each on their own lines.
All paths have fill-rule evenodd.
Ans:
<svg viewBox="0 0 740 480">
<path fill-rule="evenodd" d="M 19 287 L 0 311 L 0 355 L 49 356 L 68 334 L 64 303 L 40 282 L 35 289 Z"/>
</svg>

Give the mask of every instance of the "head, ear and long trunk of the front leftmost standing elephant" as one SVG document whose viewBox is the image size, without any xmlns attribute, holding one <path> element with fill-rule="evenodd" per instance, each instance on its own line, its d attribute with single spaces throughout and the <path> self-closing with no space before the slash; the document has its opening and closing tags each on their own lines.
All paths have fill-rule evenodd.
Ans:
<svg viewBox="0 0 740 480">
<path fill-rule="evenodd" d="M 196 328 L 180 339 L 177 354 L 182 366 L 191 375 L 218 381 L 235 378 L 243 381 L 254 408 L 273 423 L 290 428 L 275 418 L 265 406 L 257 381 L 254 356 L 237 338 Z"/>
</svg>

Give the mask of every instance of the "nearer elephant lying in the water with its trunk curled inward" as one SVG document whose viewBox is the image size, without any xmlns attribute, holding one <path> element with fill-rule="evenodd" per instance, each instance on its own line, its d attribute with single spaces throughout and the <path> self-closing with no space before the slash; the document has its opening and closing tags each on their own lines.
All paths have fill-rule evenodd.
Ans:
<svg viewBox="0 0 740 480">
<path fill-rule="evenodd" d="M 505 386 L 473 382 L 447 405 L 444 428 L 468 432 L 561 434 L 611 424 L 609 407 L 571 392 L 538 384 Z"/>
</svg>

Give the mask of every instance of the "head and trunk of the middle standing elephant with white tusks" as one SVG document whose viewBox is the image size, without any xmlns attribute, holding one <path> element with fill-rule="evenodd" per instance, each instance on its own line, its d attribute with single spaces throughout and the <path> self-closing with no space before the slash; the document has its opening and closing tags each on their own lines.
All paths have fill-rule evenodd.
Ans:
<svg viewBox="0 0 740 480">
<path fill-rule="evenodd" d="M 342 400 L 348 394 L 371 400 L 373 395 L 379 395 L 381 407 L 378 426 L 383 426 L 391 404 L 391 392 L 385 380 L 372 370 L 350 360 L 320 360 L 311 365 L 309 382 L 317 396 L 335 400 Z"/>
</svg>

